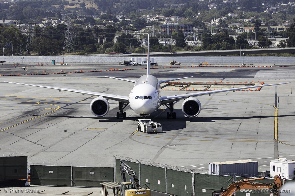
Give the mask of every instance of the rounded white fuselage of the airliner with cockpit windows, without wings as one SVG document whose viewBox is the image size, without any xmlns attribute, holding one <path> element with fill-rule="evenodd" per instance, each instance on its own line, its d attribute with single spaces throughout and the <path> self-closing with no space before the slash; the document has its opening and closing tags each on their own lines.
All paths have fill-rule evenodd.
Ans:
<svg viewBox="0 0 295 196">
<path fill-rule="evenodd" d="M 151 114 L 160 107 L 161 86 L 152 75 L 141 76 L 129 93 L 130 108 L 137 114 Z"/>
</svg>

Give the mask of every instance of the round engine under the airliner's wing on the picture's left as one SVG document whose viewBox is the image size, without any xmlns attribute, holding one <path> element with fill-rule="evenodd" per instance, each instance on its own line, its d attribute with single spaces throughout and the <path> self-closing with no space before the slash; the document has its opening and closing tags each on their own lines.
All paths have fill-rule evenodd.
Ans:
<svg viewBox="0 0 295 196">
<path fill-rule="evenodd" d="M 109 112 L 109 109 L 109 102 L 103 97 L 96 97 L 90 103 L 91 112 L 98 117 L 106 115 Z"/>
</svg>

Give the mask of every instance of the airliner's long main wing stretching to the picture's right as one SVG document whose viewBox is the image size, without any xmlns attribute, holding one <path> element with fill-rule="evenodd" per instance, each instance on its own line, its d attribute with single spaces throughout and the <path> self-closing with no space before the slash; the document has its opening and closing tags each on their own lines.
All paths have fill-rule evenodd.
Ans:
<svg viewBox="0 0 295 196">
<path fill-rule="evenodd" d="M 171 96 L 164 96 L 161 97 L 161 104 L 167 104 L 171 103 L 174 101 L 186 99 L 189 97 L 197 97 L 201 95 L 209 95 L 213 93 L 221 93 L 221 92 L 226 92 L 226 91 L 237 91 L 237 90 L 242 90 L 242 89 L 247 89 L 247 88 L 259 88 L 259 87 L 264 87 L 264 86 L 273 86 L 273 85 L 280 85 L 280 84 L 288 84 L 290 82 L 286 83 L 279 83 L 279 84 L 267 84 L 267 85 L 260 85 L 260 86 L 249 86 L 249 87 L 238 87 L 238 88 L 228 88 L 228 89 L 221 89 L 221 90 L 214 90 L 214 91 L 202 91 L 202 92 L 197 92 L 197 93 L 188 93 L 188 94 L 182 94 L 182 95 L 171 95 Z"/>
</svg>

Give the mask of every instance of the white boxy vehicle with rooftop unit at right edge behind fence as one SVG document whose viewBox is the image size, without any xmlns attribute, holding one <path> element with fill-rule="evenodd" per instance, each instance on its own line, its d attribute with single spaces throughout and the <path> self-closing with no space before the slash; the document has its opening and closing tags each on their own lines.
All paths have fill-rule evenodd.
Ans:
<svg viewBox="0 0 295 196">
<path fill-rule="evenodd" d="M 271 160 L 271 176 L 280 175 L 281 179 L 295 179 L 295 161 L 280 158 Z"/>
</svg>

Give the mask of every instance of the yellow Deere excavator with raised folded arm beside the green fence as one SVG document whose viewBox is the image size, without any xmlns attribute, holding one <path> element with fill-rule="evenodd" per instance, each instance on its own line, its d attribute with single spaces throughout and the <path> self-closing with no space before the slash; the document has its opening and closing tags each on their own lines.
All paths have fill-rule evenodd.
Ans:
<svg viewBox="0 0 295 196">
<path fill-rule="evenodd" d="M 130 177 L 130 182 L 126 182 L 126 174 Z M 134 170 L 122 160 L 120 161 L 120 183 L 119 196 L 151 196 L 151 190 L 147 184 L 141 186 Z"/>
</svg>

